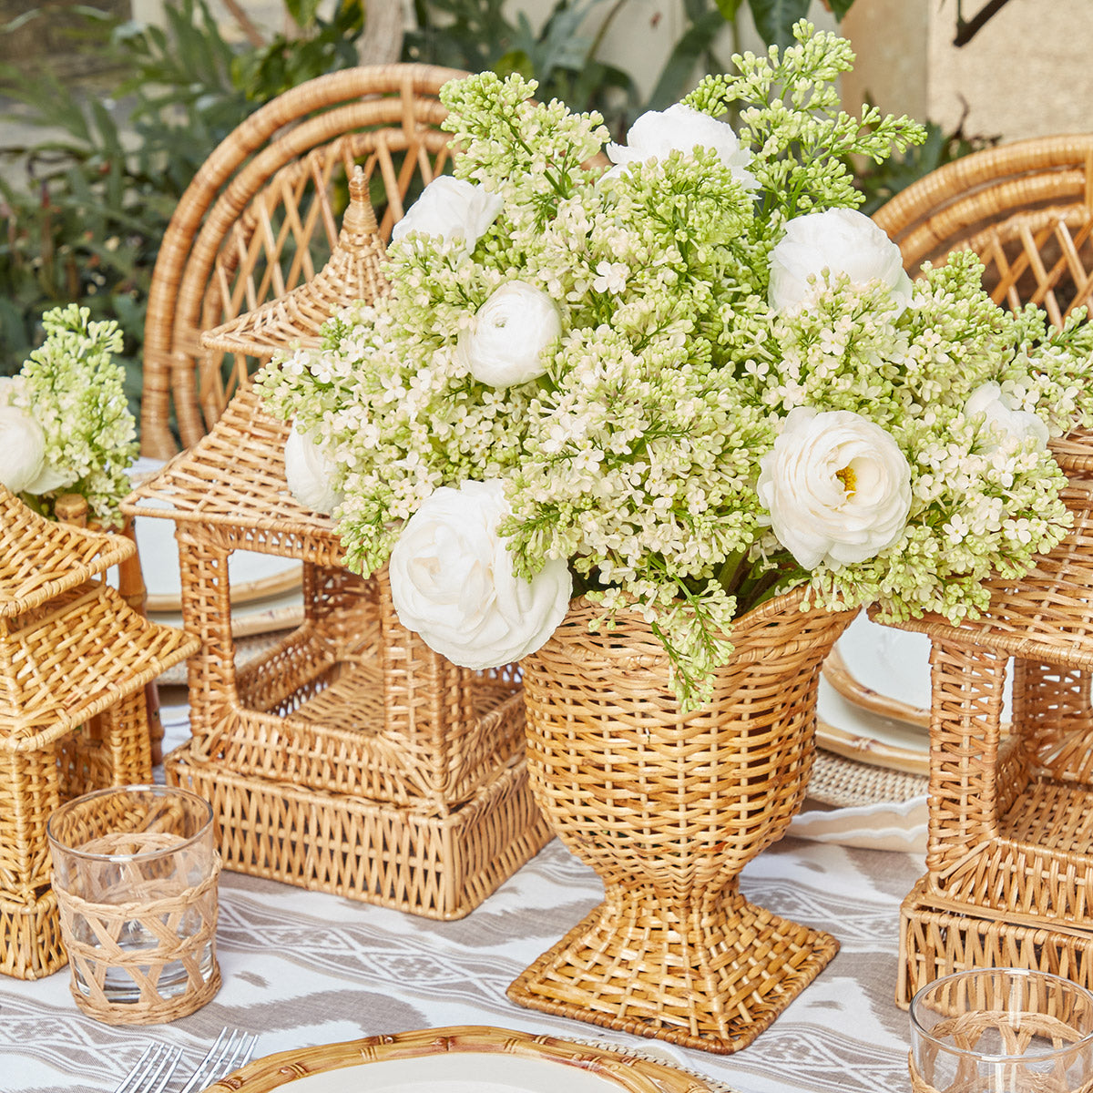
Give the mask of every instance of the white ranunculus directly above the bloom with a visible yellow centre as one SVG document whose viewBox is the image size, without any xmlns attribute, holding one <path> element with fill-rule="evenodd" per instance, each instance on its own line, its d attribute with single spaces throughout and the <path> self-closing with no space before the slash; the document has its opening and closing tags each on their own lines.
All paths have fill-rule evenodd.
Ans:
<svg viewBox="0 0 1093 1093">
<path fill-rule="evenodd" d="M 771 251 L 768 299 L 777 310 L 813 302 L 823 287 L 821 274 L 845 273 L 865 286 L 882 281 L 900 312 L 910 303 L 913 286 L 900 248 L 865 213 L 828 209 L 797 216 Z M 809 283 L 809 278 L 816 281 Z"/>
</svg>

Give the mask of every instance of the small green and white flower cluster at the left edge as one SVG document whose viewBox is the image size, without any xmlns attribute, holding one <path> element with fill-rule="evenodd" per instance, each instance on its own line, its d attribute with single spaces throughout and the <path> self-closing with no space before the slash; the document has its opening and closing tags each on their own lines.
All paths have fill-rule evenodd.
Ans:
<svg viewBox="0 0 1093 1093">
<path fill-rule="evenodd" d="M 78 493 L 101 524 L 119 524 L 137 455 L 125 369 L 113 359 L 121 331 L 75 304 L 42 325 L 43 344 L 17 376 L 0 379 L 0 482 L 46 516 L 59 494 Z"/>
</svg>

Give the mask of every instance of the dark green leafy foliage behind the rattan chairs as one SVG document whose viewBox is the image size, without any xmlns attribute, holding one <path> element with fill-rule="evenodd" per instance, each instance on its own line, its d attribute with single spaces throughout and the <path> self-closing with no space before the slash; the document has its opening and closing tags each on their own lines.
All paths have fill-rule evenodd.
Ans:
<svg viewBox="0 0 1093 1093">
<path fill-rule="evenodd" d="M 647 97 L 632 73 L 599 59 L 603 35 L 626 2 L 555 0 L 537 30 L 522 13 L 510 15 L 508 0 L 414 0 L 418 28 L 407 35 L 403 59 L 533 77 L 541 97 L 600 110 L 621 139 L 642 110 L 662 109 L 704 72 L 727 68 L 715 42 L 744 0 L 683 0 L 684 33 Z M 747 2 L 761 35 L 779 45 L 809 7 L 808 0 Z M 832 10 L 841 16 L 851 2 L 833 0 Z M 164 27 L 80 9 L 83 47 L 102 50 L 116 73 L 106 96 L 38 68 L 31 77 L 0 69 L 7 94 L 23 104 L 21 120 L 43 132 L 26 146 L 0 148 L 0 157 L 21 164 L 7 178 L 0 175 L 0 375 L 17 372 L 40 343 L 45 312 L 75 302 L 94 318 L 120 324 L 127 393 L 137 412 L 156 249 L 189 180 L 258 106 L 357 63 L 363 0 L 342 0 L 329 17 L 319 0 L 283 3 L 294 33 L 274 34 L 261 45 L 225 40 L 205 0 L 168 0 Z M 597 11 L 601 28 L 583 34 Z M 121 108 L 108 109 L 107 101 Z M 935 131 L 927 145 L 893 161 L 883 176 L 862 175 L 862 188 L 875 207 L 971 146 Z"/>
</svg>

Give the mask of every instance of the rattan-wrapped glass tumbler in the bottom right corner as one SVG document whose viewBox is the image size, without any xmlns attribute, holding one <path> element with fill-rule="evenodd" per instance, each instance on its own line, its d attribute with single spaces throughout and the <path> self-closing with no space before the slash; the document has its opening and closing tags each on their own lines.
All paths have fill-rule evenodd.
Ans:
<svg viewBox="0 0 1093 1093">
<path fill-rule="evenodd" d="M 980 968 L 910 1002 L 916 1093 L 1078 1093 L 1093 1083 L 1093 994 L 1057 975 Z"/>
</svg>

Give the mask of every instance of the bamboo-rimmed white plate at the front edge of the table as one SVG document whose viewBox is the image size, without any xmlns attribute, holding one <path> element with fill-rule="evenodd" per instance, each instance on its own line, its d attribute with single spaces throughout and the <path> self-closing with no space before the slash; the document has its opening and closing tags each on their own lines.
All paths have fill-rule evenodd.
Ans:
<svg viewBox="0 0 1093 1093">
<path fill-rule="evenodd" d="M 647 1058 L 463 1025 L 256 1059 L 205 1093 L 710 1093 L 696 1076 Z"/>
</svg>

